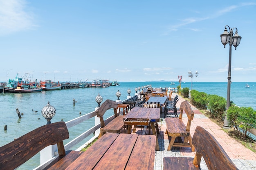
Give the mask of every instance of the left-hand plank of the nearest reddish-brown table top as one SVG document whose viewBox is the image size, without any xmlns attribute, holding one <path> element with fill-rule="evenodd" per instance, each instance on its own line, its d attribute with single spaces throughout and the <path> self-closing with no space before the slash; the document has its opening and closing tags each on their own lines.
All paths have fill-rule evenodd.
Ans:
<svg viewBox="0 0 256 170">
<path fill-rule="evenodd" d="M 97 140 L 92 146 L 86 150 L 80 157 L 78 157 L 67 170 L 91 170 L 101 159 L 102 155 L 106 153 L 108 148 L 112 145 L 118 137 L 118 133 L 106 133 L 103 137 Z M 61 168 L 62 169 L 62 168 Z"/>
</svg>

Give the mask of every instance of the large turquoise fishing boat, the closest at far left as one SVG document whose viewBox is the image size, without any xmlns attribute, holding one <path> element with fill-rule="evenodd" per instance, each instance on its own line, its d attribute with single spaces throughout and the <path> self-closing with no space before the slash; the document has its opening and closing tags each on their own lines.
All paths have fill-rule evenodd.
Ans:
<svg viewBox="0 0 256 170">
<path fill-rule="evenodd" d="M 9 79 L 7 86 L 4 87 L 4 92 L 10 93 L 31 93 L 31 92 L 42 92 L 43 88 L 36 81 L 29 81 L 26 76 L 28 73 L 25 73 L 23 78 L 18 77 Z M 24 78 L 25 77 L 25 78 Z M 30 77 L 30 74 L 29 74 Z M 24 80 L 25 79 L 25 80 Z"/>
</svg>

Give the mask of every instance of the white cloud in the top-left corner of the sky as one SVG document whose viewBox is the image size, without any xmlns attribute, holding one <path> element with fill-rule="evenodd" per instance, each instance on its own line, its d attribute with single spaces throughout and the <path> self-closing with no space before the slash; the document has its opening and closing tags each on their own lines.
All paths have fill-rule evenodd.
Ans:
<svg viewBox="0 0 256 170">
<path fill-rule="evenodd" d="M 25 0 L 0 0 L 0 35 L 35 27 L 33 14 L 26 10 Z"/>
</svg>

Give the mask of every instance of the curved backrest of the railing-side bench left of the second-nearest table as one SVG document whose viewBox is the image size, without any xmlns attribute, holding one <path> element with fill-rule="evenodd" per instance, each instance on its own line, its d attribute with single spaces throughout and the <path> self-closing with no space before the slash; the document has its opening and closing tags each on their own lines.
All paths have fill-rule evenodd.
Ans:
<svg viewBox="0 0 256 170">
<path fill-rule="evenodd" d="M 105 114 L 105 112 L 110 109 L 113 108 L 114 109 L 114 114 L 115 114 L 115 118 L 118 116 L 117 115 L 117 102 L 113 101 L 113 100 L 106 100 L 105 102 L 102 103 L 102 105 L 99 107 L 99 109 L 96 110 L 97 112 L 97 117 L 100 119 L 101 121 L 101 127 L 105 126 L 105 122 L 103 119 L 103 115 Z"/>
</svg>

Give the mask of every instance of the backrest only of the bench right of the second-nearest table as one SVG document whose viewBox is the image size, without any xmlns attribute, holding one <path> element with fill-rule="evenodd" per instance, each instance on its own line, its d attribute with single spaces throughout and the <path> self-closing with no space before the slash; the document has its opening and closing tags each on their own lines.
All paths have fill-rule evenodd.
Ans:
<svg viewBox="0 0 256 170">
<path fill-rule="evenodd" d="M 191 105 L 189 104 L 189 102 L 187 100 L 183 101 L 181 104 L 180 104 L 180 117 L 179 119 L 182 120 L 182 114 L 183 114 L 183 111 L 186 112 L 186 116 L 188 117 L 188 123 L 186 125 L 186 130 L 189 131 L 190 130 L 190 126 L 191 126 L 191 120 L 193 120 L 194 118 L 194 111 L 192 110 L 191 108 Z"/>
</svg>

